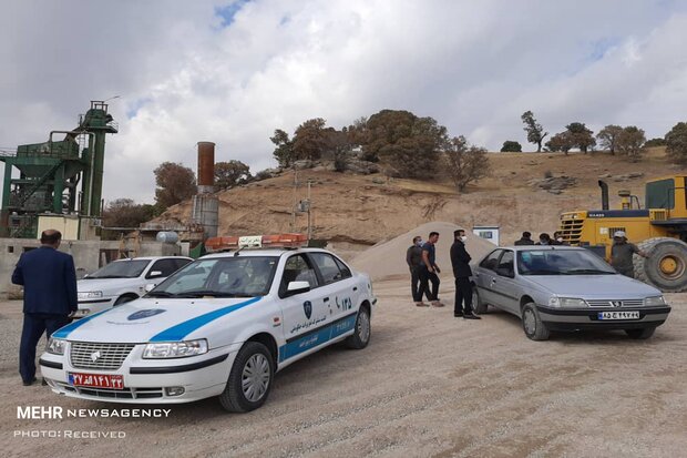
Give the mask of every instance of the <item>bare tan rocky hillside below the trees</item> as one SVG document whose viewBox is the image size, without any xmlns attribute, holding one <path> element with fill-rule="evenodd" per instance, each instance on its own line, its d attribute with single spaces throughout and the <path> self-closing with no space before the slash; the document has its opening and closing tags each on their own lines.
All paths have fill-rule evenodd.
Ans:
<svg viewBox="0 0 687 458">
<path fill-rule="evenodd" d="M 338 173 L 326 167 L 286 171 L 277 176 L 221 192 L 219 233 L 306 232 L 307 215 L 291 208 L 307 197 L 310 181 L 315 238 L 350 255 L 430 221 L 461 226 L 499 225 L 502 243 L 522 231 L 553 232 L 563 211 L 598 208 L 597 180 L 617 191 L 644 195 L 644 182 L 678 173 L 663 150 L 638 163 L 605 153 L 494 153 L 491 176 L 458 194 L 445 180 L 420 182 L 389 179 L 381 173 Z M 296 183 L 296 184 L 295 184 Z M 186 223 L 191 201 L 167 210 L 157 222 Z"/>
</svg>

